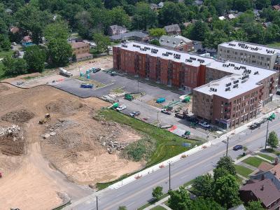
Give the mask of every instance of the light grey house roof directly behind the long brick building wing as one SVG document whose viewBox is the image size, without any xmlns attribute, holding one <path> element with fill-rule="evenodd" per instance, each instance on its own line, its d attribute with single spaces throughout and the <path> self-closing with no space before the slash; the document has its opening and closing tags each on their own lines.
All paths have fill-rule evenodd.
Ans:
<svg viewBox="0 0 280 210">
<path fill-rule="evenodd" d="M 160 37 L 160 45 L 168 48 L 176 48 L 186 43 L 192 42 L 190 39 L 183 36 L 166 36 L 163 35 Z"/>
</svg>

